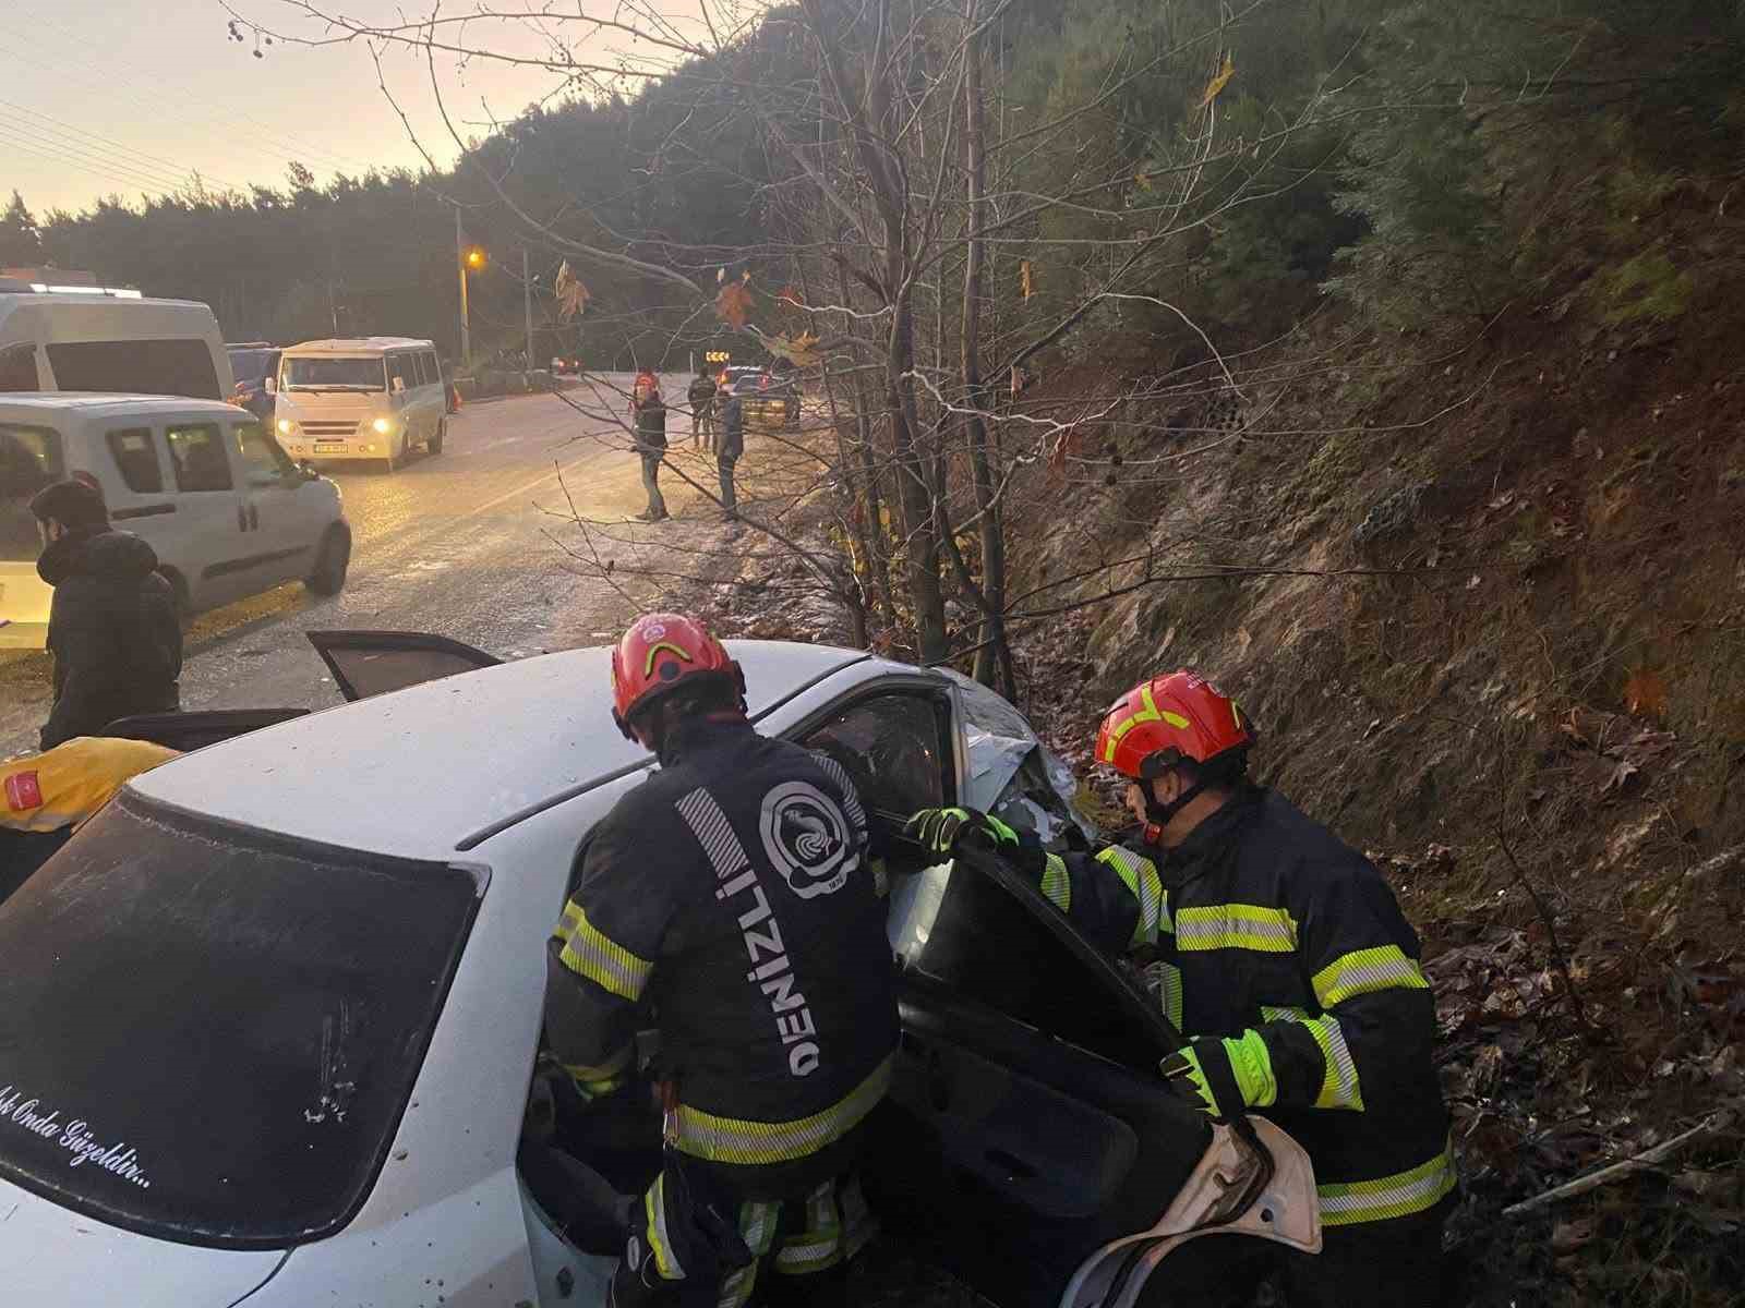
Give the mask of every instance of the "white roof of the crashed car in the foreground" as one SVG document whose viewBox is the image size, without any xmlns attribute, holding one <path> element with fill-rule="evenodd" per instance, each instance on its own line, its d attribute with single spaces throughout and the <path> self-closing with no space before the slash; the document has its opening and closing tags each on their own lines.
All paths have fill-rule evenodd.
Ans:
<svg viewBox="0 0 1745 1308">
<path fill-rule="evenodd" d="M 729 640 L 763 713 L 857 649 Z M 611 649 L 571 649 L 424 682 L 188 753 L 140 778 L 147 799 L 309 841 L 454 858 L 455 848 L 649 760 L 612 724 Z"/>
</svg>

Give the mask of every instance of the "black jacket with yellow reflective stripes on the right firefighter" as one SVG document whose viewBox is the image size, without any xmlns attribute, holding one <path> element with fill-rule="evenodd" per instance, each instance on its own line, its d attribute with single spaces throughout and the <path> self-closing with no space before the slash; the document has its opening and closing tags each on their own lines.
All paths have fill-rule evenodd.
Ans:
<svg viewBox="0 0 1745 1308">
<path fill-rule="evenodd" d="M 1155 949 L 1185 1036 L 1262 1034 L 1277 1083 L 1262 1113 L 1314 1160 L 1324 1224 L 1406 1217 L 1454 1188 L 1419 938 L 1366 858 L 1258 787 L 1167 858 L 1040 853 L 1044 895 L 1092 940 Z"/>
</svg>

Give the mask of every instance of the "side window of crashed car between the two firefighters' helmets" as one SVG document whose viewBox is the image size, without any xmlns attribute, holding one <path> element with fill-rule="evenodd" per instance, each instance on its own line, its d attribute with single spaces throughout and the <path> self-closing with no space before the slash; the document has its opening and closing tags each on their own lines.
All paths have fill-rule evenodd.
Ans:
<svg viewBox="0 0 1745 1308">
<path fill-rule="evenodd" d="M 951 710 L 930 694 L 867 696 L 811 727 L 801 743 L 836 759 L 872 813 L 906 818 L 956 797 Z"/>
</svg>

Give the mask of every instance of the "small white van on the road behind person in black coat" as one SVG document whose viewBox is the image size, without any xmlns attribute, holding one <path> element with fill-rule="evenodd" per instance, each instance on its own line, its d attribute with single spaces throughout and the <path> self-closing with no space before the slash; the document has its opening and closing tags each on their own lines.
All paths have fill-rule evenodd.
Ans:
<svg viewBox="0 0 1745 1308">
<path fill-rule="evenodd" d="M 42 649 L 52 591 L 30 499 L 89 478 L 110 521 L 157 551 L 183 612 L 286 581 L 346 584 L 339 487 L 298 467 L 243 408 L 211 399 L 0 394 L 0 649 Z"/>
</svg>

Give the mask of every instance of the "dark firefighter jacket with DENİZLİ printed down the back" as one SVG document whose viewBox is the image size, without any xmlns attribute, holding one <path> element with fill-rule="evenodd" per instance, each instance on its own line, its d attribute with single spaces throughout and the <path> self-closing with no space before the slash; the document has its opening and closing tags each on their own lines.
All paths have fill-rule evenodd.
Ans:
<svg viewBox="0 0 1745 1308">
<path fill-rule="evenodd" d="M 551 1048 L 585 1095 L 611 1093 L 649 1003 L 677 1148 L 743 1195 L 804 1191 L 843 1170 L 890 1081 L 879 891 L 838 762 L 695 724 L 583 853 L 548 944 Z"/>
</svg>

